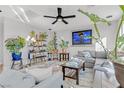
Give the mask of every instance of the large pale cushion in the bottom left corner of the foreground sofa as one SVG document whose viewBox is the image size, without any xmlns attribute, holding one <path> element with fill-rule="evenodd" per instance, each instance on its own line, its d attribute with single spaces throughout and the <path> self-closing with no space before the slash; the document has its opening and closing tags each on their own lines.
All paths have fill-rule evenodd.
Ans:
<svg viewBox="0 0 124 93">
<path fill-rule="evenodd" d="M 0 74 L 0 85 L 5 88 L 30 88 L 35 82 L 33 76 L 15 70 L 5 70 Z"/>
</svg>

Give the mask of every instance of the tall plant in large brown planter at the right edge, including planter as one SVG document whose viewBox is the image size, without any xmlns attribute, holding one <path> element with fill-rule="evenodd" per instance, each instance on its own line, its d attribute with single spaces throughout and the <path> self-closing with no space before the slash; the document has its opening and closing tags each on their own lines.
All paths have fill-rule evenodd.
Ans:
<svg viewBox="0 0 124 93">
<path fill-rule="evenodd" d="M 122 15 L 118 23 L 116 40 L 115 40 L 115 48 L 114 48 L 114 56 L 112 56 L 112 60 L 115 67 L 116 78 L 119 81 L 121 87 L 124 87 L 124 59 L 119 57 L 118 50 L 124 48 L 124 35 L 119 36 L 121 26 L 124 21 L 124 6 L 120 6 L 122 10 Z"/>
</svg>

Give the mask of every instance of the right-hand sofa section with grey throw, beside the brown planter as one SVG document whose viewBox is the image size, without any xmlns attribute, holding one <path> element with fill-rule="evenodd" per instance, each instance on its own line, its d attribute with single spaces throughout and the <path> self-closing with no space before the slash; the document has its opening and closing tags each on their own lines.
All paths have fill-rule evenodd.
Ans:
<svg viewBox="0 0 124 93">
<path fill-rule="evenodd" d="M 115 71 L 112 63 L 108 61 L 111 66 L 101 66 L 106 60 L 96 59 L 94 65 L 94 80 L 92 87 L 94 88 L 117 88 L 120 86 L 115 77 Z"/>
</svg>

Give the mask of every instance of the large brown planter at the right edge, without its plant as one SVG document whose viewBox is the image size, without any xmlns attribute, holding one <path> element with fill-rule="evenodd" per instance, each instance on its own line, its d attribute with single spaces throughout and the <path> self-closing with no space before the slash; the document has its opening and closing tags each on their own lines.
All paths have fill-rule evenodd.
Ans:
<svg viewBox="0 0 124 93">
<path fill-rule="evenodd" d="M 113 62 L 115 68 L 115 75 L 120 83 L 120 87 L 124 88 L 124 65 Z"/>
</svg>

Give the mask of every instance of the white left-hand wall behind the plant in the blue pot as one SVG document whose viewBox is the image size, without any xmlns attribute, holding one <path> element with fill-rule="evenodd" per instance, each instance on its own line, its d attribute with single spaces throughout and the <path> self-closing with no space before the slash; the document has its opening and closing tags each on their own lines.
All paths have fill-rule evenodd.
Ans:
<svg viewBox="0 0 124 93">
<path fill-rule="evenodd" d="M 7 38 L 12 38 L 12 37 L 17 37 L 17 36 L 22 36 L 26 39 L 32 30 L 36 31 L 36 32 L 43 31 L 42 29 L 41 30 L 36 29 L 34 27 L 31 27 L 31 26 L 21 23 L 19 21 L 5 18 L 5 20 L 4 20 L 4 41 Z M 22 49 L 22 53 L 23 53 L 22 58 L 27 59 L 27 56 L 28 56 L 28 47 L 27 46 L 25 46 Z M 4 65 L 9 66 L 9 67 L 11 65 L 11 55 L 8 52 L 8 50 L 6 50 L 6 47 L 4 47 Z"/>
</svg>

